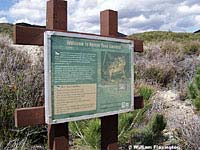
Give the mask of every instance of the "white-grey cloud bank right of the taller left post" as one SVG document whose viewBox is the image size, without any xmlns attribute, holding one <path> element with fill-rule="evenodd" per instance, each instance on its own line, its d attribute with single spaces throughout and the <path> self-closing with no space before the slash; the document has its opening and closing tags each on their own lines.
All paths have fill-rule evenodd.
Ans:
<svg viewBox="0 0 200 150">
<path fill-rule="evenodd" d="M 70 5 L 73 8 L 73 12 L 69 15 L 69 29 L 99 33 L 99 12 L 113 9 L 119 13 L 119 31 L 125 34 L 149 30 L 187 31 L 190 25 L 196 24 L 190 19 L 195 18 L 200 11 L 196 2 L 195 0 L 193 3 L 190 0 L 81 0 L 72 3 L 69 1 L 69 10 Z M 186 6 L 186 10 L 183 6 Z M 92 27 L 95 27 L 95 30 L 92 30 Z"/>
</svg>

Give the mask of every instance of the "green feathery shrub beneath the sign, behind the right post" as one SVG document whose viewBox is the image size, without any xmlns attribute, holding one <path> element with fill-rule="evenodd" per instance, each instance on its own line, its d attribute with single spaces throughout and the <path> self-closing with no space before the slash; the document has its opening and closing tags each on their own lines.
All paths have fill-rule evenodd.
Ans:
<svg viewBox="0 0 200 150">
<path fill-rule="evenodd" d="M 130 142 L 135 125 L 140 124 L 146 117 L 150 105 L 133 112 L 119 114 L 118 139 L 119 145 L 125 146 Z M 69 123 L 70 133 L 74 145 L 89 146 L 91 149 L 100 149 L 100 120 L 91 119 Z M 139 131 L 138 131 L 139 132 Z M 140 139 L 141 141 L 142 139 Z M 130 144 L 130 143 L 129 143 Z"/>
</svg>

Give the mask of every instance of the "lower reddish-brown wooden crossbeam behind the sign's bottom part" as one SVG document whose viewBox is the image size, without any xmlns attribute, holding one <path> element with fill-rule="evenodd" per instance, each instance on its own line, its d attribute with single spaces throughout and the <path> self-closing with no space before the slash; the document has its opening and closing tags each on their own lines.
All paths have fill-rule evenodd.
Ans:
<svg viewBox="0 0 200 150">
<path fill-rule="evenodd" d="M 143 97 L 134 97 L 134 109 L 141 109 L 144 107 Z M 15 110 L 15 126 L 33 126 L 45 124 L 45 108 L 30 107 L 30 108 L 18 108 Z"/>
</svg>

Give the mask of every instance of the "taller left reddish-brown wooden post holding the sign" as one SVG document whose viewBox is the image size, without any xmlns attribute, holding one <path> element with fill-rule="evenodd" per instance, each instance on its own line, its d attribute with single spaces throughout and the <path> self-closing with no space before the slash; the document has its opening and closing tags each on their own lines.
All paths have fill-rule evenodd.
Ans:
<svg viewBox="0 0 200 150">
<path fill-rule="evenodd" d="M 47 29 L 67 31 L 67 2 L 48 1 L 46 21 Z M 48 125 L 48 146 L 53 150 L 69 149 L 68 123 Z"/>
</svg>

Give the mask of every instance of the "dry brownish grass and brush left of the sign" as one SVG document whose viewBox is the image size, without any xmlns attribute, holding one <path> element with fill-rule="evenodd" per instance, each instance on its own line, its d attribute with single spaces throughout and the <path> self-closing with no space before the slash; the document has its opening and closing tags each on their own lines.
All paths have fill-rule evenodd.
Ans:
<svg viewBox="0 0 200 150">
<path fill-rule="evenodd" d="M 16 108 L 43 104 L 44 70 L 42 57 L 33 64 L 27 52 L 14 49 L 11 44 L 8 36 L 0 35 L 0 149 L 42 143 L 46 138 L 45 127 L 14 127 Z"/>
</svg>

